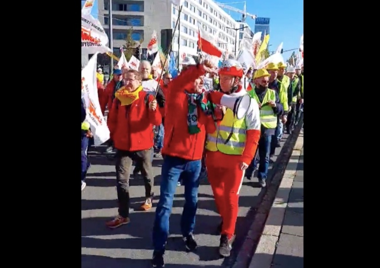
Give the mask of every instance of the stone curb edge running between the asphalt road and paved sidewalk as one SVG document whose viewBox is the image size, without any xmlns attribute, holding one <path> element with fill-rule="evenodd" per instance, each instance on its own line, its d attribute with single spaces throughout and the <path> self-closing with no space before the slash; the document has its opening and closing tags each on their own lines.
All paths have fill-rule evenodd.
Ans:
<svg viewBox="0 0 380 268">
<path fill-rule="evenodd" d="M 294 164 L 293 163 L 294 160 L 290 159 L 290 157 L 293 154 L 294 154 L 293 156 L 298 155 L 298 158 L 296 161 L 299 160 L 299 156 L 300 156 L 299 150 L 300 149 L 298 149 L 298 148 L 301 146 L 301 143 L 303 144 L 303 135 L 299 136 L 299 133 L 300 133 L 300 130 L 302 127 L 302 118 L 300 121 L 301 121 L 301 123 L 297 125 L 297 127 L 294 130 L 294 132 L 292 133 L 291 137 L 289 137 L 290 138 L 289 144 L 288 144 L 287 148 L 284 148 L 283 157 L 280 159 L 280 162 L 278 163 L 278 169 L 279 170 L 277 170 L 277 172 L 274 174 L 271 182 L 267 186 L 267 192 L 264 194 L 264 196 L 261 200 L 261 203 L 260 203 L 259 207 L 257 208 L 254 220 L 253 220 L 251 227 L 248 231 L 247 237 L 246 237 L 245 241 L 243 242 L 243 245 L 242 245 L 242 247 L 238 253 L 238 256 L 237 256 L 236 261 L 235 261 L 234 265 L 232 266 L 232 268 L 267 268 L 267 267 L 271 266 L 272 258 L 273 258 L 273 255 L 275 253 L 278 237 L 273 236 L 273 235 L 263 234 L 263 230 L 265 227 L 265 222 L 267 222 L 268 215 L 270 214 L 272 204 L 274 204 L 275 197 L 276 197 L 276 194 L 278 192 L 278 188 L 281 186 L 285 187 L 285 186 L 288 186 L 290 184 L 290 181 L 287 180 L 286 178 L 291 179 L 291 177 L 293 177 L 293 179 L 294 179 L 295 171 L 286 170 L 287 168 L 285 168 L 285 167 L 287 167 L 289 164 L 292 164 L 292 165 Z M 298 140 L 299 138 L 301 138 L 302 140 Z M 298 141 L 298 143 L 297 143 L 297 141 Z M 283 178 L 285 180 L 283 180 Z M 284 182 L 283 184 L 282 184 L 282 181 Z M 292 181 L 291 181 L 290 186 L 288 186 L 289 187 L 289 193 L 290 193 L 291 185 L 292 185 Z M 282 195 L 282 193 L 281 193 L 281 195 Z M 275 205 L 279 206 L 279 207 L 283 207 L 284 213 L 281 214 L 281 212 L 280 212 L 280 214 L 279 214 L 279 216 L 281 218 L 281 215 L 282 216 L 285 215 L 286 203 L 285 204 L 275 203 Z M 282 209 L 280 209 L 279 211 L 281 211 L 281 210 Z M 274 217 L 278 213 L 279 212 L 277 212 L 277 211 L 273 212 L 272 217 Z M 280 229 L 281 229 L 281 225 L 282 225 L 282 220 L 281 220 L 280 225 L 279 225 Z M 278 230 L 278 228 L 268 227 L 268 229 L 265 230 L 265 232 L 269 232 L 269 233 L 272 232 L 272 233 L 276 234 L 276 232 L 279 233 L 280 230 Z M 272 246 L 272 245 L 274 245 L 274 246 Z M 260 253 L 266 253 L 266 254 L 258 254 L 256 259 L 255 259 L 254 253 L 257 252 L 257 249 L 260 249 L 262 251 Z M 262 260 L 260 260 L 260 261 L 262 264 L 257 262 L 258 256 L 261 256 Z M 252 263 L 257 263 L 257 265 L 252 264 Z M 269 263 L 269 266 L 264 266 L 265 263 Z M 252 266 L 252 265 L 255 265 L 255 266 Z"/>
</svg>

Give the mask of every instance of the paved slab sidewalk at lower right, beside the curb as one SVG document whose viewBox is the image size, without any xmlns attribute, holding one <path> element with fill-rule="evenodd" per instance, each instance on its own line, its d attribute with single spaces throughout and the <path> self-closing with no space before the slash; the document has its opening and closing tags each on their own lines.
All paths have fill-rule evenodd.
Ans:
<svg viewBox="0 0 380 268">
<path fill-rule="evenodd" d="M 302 131 L 249 268 L 303 268 Z"/>
</svg>

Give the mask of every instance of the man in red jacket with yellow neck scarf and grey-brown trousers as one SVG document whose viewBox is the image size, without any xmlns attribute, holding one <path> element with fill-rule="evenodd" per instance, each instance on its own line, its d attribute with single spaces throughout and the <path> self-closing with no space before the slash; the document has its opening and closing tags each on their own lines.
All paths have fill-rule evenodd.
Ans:
<svg viewBox="0 0 380 268">
<path fill-rule="evenodd" d="M 151 166 L 153 126 L 161 124 L 157 101 L 153 95 L 143 91 L 141 74 L 135 70 L 128 70 L 123 80 L 125 87 L 116 92 L 107 120 L 110 137 L 118 150 L 116 189 L 119 201 L 118 216 L 106 223 L 109 228 L 117 228 L 130 221 L 129 176 L 133 161 L 142 167 L 146 200 L 141 209 L 151 208 L 154 183 Z"/>
</svg>

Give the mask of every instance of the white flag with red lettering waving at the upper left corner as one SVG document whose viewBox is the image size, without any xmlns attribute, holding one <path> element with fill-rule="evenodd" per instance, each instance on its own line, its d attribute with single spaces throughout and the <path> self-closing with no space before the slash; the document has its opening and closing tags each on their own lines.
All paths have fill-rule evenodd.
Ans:
<svg viewBox="0 0 380 268">
<path fill-rule="evenodd" d="M 82 11 L 82 54 L 112 52 L 107 47 L 108 36 L 99 20 Z"/>
</svg>

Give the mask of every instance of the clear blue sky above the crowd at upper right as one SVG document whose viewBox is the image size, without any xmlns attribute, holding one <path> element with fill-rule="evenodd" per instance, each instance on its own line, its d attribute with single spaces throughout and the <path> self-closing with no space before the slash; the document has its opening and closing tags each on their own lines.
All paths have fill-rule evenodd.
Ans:
<svg viewBox="0 0 380 268">
<path fill-rule="evenodd" d="M 219 3 L 243 2 L 236 0 L 217 0 Z M 277 49 L 281 42 L 284 42 L 283 49 L 290 50 L 299 48 L 299 38 L 303 34 L 303 0 L 248 0 L 247 12 L 257 15 L 257 17 L 271 18 L 270 40 L 272 46 L 270 51 Z M 227 4 L 229 6 L 243 10 L 244 4 Z M 241 19 L 239 13 L 225 10 L 234 19 Z M 255 28 L 255 21 L 247 18 L 246 22 L 252 31 Z M 297 53 L 297 51 L 295 51 Z M 287 60 L 292 52 L 284 52 L 284 60 Z"/>
</svg>

